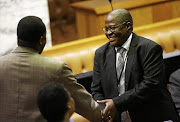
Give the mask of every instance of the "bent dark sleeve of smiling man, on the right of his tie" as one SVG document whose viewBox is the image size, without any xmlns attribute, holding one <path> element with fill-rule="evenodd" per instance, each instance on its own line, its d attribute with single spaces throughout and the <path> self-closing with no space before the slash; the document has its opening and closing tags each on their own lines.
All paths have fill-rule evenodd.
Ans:
<svg viewBox="0 0 180 122">
<path fill-rule="evenodd" d="M 156 102 L 160 98 L 162 82 L 165 82 L 163 80 L 164 63 L 161 46 L 157 44 L 146 45 L 143 50 L 141 49 L 137 53 L 136 60 L 140 62 L 142 70 L 138 70 L 136 66 L 133 66 L 136 68 L 133 69 L 133 72 L 131 71 L 130 75 L 130 82 L 134 82 L 136 85 L 123 95 L 113 98 L 113 102 L 120 112 L 145 102 Z M 138 57 L 139 55 L 141 57 Z"/>
</svg>

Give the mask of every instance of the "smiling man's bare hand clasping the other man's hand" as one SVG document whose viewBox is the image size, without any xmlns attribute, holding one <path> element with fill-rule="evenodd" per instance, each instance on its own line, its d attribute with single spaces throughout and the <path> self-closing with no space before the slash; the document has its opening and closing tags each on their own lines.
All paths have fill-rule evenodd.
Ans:
<svg viewBox="0 0 180 122">
<path fill-rule="evenodd" d="M 106 105 L 103 110 L 103 118 L 109 120 L 108 122 L 112 122 L 117 111 L 112 99 L 97 101 L 97 103 Z"/>
</svg>

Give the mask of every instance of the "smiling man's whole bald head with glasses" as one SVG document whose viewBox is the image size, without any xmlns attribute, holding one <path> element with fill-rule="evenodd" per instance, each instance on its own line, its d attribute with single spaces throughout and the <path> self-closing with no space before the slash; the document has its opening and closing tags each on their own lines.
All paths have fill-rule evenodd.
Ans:
<svg viewBox="0 0 180 122">
<path fill-rule="evenodd" d="M 125 9 L 115 9 L 105 19 L 104 32 L 110 45 L 121 47 L 133 31 L 131 14 Z"/>
</svg>

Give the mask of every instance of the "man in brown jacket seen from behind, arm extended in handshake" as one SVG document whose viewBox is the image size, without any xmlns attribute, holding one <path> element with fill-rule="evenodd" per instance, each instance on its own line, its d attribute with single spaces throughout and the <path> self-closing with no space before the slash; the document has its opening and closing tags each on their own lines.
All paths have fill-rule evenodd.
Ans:
<svg viewBox="0 0 180 122">
<path fill-rule="evenodd" d="M 22 18 L 17 27 L 18 47 L 0 57 L 0 122 L 45 121 L 37 106 L 37 94 L 49 81 L 61 82 L 76 103 L 76 112 L 92 122 L 101 121 L 99 105 L 78 84 L 62 61 L 41 54 L 46 28 L 35 16 Z"/>
</svg>

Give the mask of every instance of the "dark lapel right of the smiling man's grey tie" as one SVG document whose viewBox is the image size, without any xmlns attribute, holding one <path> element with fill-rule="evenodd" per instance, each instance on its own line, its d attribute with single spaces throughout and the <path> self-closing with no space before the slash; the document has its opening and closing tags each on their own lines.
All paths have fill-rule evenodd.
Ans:
<svg viewBox="0 0 180 122">
<path fill-rule="evenodd" d="M 125 90 L 127 90 L 127 88 L 128 88 L 129 78 L 130 78 L 130 73 L 131 73 L 131 69 L 133 66 L 133 61 L 134 61 L 134 57 L 135 57 L 135 50 L 136 50 L 137 43 L 138 43 L 137 35 L 133 33 L 133 37 L 132 37 L 129 52 L 128 52 L 128 60 L 127 60 L 127 64 L 126 64 L 126 71 L 125 71 Z"/>
</svg>

